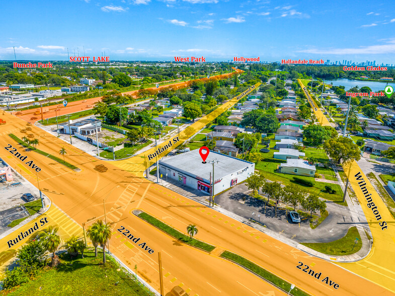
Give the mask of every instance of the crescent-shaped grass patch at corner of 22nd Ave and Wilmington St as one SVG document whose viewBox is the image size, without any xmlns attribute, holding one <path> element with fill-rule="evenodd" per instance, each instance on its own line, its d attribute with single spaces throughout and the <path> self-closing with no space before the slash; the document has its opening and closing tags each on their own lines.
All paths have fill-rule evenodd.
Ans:
<svg viewBox="0 0 395 296">
<path fill-rule="evenodd" d="M 352 250 L 355 238 L 358 238 L 358 243 Z M 350 255 L 358 252 L 361 247 L 361 237 L 356 227 L 350 227 L 345 237 L 340 240 L 330 243 L 301 243 L 303 246 L 309 247 L 315 251 L 335 256 Z"/>
</svg>

